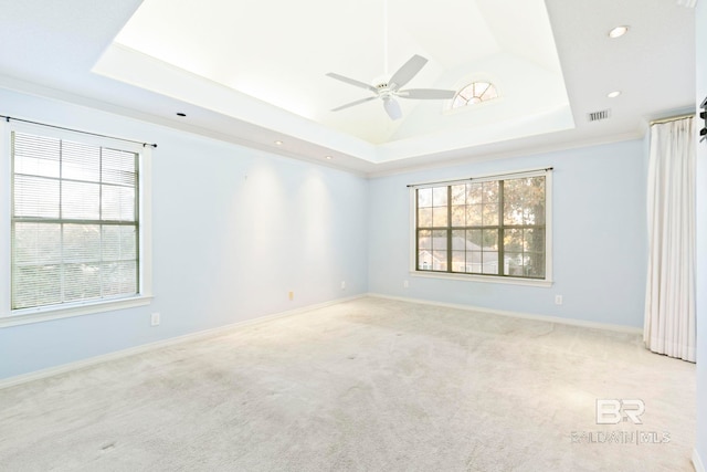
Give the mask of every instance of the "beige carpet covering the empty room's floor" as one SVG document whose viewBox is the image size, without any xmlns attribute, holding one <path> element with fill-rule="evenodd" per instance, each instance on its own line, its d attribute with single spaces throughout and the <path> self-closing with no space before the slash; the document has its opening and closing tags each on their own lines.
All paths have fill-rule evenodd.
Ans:
<svg viewBox="0 0 707 472">
<path fill-rule="evenodd" d="M 692 471 L 694 376 L 639 335 L 361 298 L 0 390 L 0 470 Z"/>
</svg>

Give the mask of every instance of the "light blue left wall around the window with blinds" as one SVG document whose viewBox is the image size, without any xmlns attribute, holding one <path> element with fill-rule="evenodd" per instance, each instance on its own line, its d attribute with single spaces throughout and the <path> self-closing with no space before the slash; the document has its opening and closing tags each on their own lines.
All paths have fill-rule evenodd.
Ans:
<svg viewBox="0 0 707 472">
<path fill-rule="evenodd" d="M 154 303 L 0 328 L 0 378 L 367 291 L 366 179 L 9 91 L 0 104 L 10 116 L 159 145 Z"/>
</svg>

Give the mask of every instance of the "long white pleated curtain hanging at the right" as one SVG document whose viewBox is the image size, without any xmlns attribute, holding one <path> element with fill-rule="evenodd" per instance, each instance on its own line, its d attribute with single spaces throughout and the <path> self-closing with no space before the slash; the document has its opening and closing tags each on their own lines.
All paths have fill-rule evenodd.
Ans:
<svg viewBox="0 0 707 472">
<path fill-rule="evenodd" d="M 648 277 L 643 340 L 695 361 L 695 132 L 693 118 L 651 126 Z"/>
</svg>

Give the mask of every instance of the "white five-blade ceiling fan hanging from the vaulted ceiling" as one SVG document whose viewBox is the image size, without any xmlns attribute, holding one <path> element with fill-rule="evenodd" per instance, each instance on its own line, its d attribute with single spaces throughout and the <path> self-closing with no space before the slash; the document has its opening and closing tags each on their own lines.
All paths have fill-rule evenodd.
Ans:
<svg viewBox="0 0 707 472">
<path fill-rule="evenodd" d="M 391 119 L 399 119 L 402 117 L 402 112 L 400 111 L 400 105 L 395 101 L 395 97 L 400 98 L 411 98 L 411 99 L 449 99 L 453 98 L 456 94 L 455 91 L 445 91 L 440 88 L 408 88 L 400 90 L 405 86 L 408 82 L 410 82 L 418 73 L 428 63 L 428 60 L 421 55 L 413 55 L 408 62 L 405 62 L 402 67 L 395 72 L 388 82 L 383 82 L 376 85 L 370 85 L 365 82 L 357 81 L 355 78 L 349 78 L 344 75 L 335 74 L 334 72 L 329 72 L 328 75 L 331 78 L 336 78 L 341 82 L 346 82 L 347 84 L 354 85 L 359 88 L 365 88 L 369 92 L 374 93 L 376 95 L 369 96 L 366 98 L 357 99 L 356 102 L 347 103 L 346 105 L 341 105 L 331 109 L 331 112 L 338 112 L 344 108 L 348 108 L 350 106 L 360 105 L 361 103 L 370 102 L 376 98 L 381 98 L 383 101 L 383 107 L 390 116 Z"/>
</svg>

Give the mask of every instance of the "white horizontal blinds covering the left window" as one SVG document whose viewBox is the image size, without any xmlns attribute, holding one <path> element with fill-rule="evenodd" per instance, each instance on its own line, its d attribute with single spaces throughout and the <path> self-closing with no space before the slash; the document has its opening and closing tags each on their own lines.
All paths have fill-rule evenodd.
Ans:
<svg viewBox="0 0 707 472">
<path fill-rule="evenodd" d="M 138 154 L 12 133 L 12 308 L 138 293 Z"/>
</svg>

